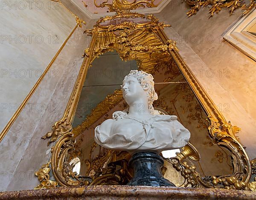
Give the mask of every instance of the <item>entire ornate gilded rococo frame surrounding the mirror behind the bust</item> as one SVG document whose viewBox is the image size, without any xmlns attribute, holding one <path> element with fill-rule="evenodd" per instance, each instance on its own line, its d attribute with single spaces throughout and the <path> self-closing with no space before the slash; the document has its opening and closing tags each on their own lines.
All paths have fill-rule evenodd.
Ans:
<svg viewBox="0 0 256 200">
<path fill-rule="evenodd" d="M 195 166 L 188 165 L 186 162 L 183 162 L 183 159 L 186 157 L 194 160 L 197 160 L 199 157 L 197 151 L 190 144 L 185 146 L 183 151 L 180 154 L 177 154 L 176 157 L 168 159 L 168 162 L 172 163 L 173 167 L 177 171 L 183 172 L 183 177 L 187 183 L 185 186 L 249 190 L 250 187 L 248 183 L 251 176 L 251 164 L 243 146 L 240 144 L 239 139 L 236 136 L 239 128 L 232 126 L 230 122 L 227 122 L 224 119 L 224 116 L 218 111 L 216 105 L 183 61 L 175 42 L 167 38 L 163 29 L 169 25 L 160 23 L 153 15 L 148 15 L 145 19 L 145 15 L 143 14 L 130 12 L 130 9 L 136 9 L 140 4 L 144 3 L 143 5 L 145 5 L 145 1 L 136 2 L 135 0 L 135 5 L 130 3 L 130 6 L 127 6 L 128 4 L 126 3 L 125 6 L 122 7 L 120 5 L 122 5 L 123 2 L 125 2 L 125 0 L 122 2 L 113 1 L 113 4 L 108 4 L 107 6 L 112 6 L 111 9 L 115 11 L 116 14 L 101 18 L 97 21 L 93 29 L 85 31 L 85 33 L 90 35 L 92 38 L 89 48 L 84 51 L 84 61 L 81 65 L 81 69 L 64 112 L 64 116 L 52 126 L 51 132 L 46 133 L 45 136 L 42 137 L 43 139 L 49 138 L 48 145 L 51 142 L 55 142 L 55 144 L 51 148 L 50 161 L 35 172 L 35 175 L 38 176 L 38 180 L 40 181 L 40 184 L 36 189 L 52 188 L 55 186 L 117 185 L 124 183 L 124 177 L 122 176 L 130 175 L 128 173 L 125 175 L 123 171 L 115 171 L 115 173 L 111 171 L 109 174 L 102 174 L 102 176 L 97 177 L 94 180 L 90 177 L 79 177 L 72 171 L 73 166 L 71 166 L 67 160 L 67 155 L 74 149 L 74 137 L 81 133 L 82 130 L 89 127 L 89 125 L 96 122 L 96 120 L 104 115 L 104 113 L 108 112 L 108 110 L 101 109 L 102 105 L 108 104 L 108 109 L 111 109 L 115 104 L 122 100 L 121 90 L 116 90 L 111 97 L 106 98 L 92 111 L 83 126 L 73 129 L 72 122 L 90 64 L 97 56 L 109 51 L 110 49 L 115 49 L 120 56 L 124 56 L 123 58 L 121 56 L 122 59 L 127 59 L 125 57 L 128 55 L 127 52 L 129 52 L 130 58 L 134 58 L 134 52 L 140 52 L 140 55 L 142 56 L 146 56 L 147 52 L 157 52 L 172 56 L 183 77 L 186 79 L 205 113 L 208 115 L 208 120 L 210 122 L 208 132 L 212 142 L 230 151 L 233 164 L 233 174 L 227 174 L 221 177 L 201 177 L 201 175 L 196 172 Z M 102 3 L 101 6 L 103 7 L 106 5 Z M 154 6 L 154 3 L 147 4 L 146 6 L 152 7 Z M 131 19 L 138 17 L 145 19 L 145 22 L 134 23 L 131 21 Z M 117 18 L 126 18 L 127 21 L 116 25 L 102 25 L 107 21 Z M 113 37 L 116 32 L 118 32 L 118 35 Z M 149 35 L 151 34 L 151 36 L 149 36 L 149 38 L 151 38 L 148 40 L 145 38 L 142 39 L 142 37 L 136 38 L 132 35 L 134 32 L 147 32 Z M 97 40 L 98 36 L 103 39 Z M 154 62 L 149 64 L 140 63 L 139 66 L 140 69 L 145 72 L 151 72 L 151 70 L 154 69 L 154 64 Z M 107 156 L 111 156 L 111 151 L 108 151 Z M 121 163 L 121 165 L 125 168 L 127 163 Z M 50 171 L 52 171 L 53 175 L 51 178 L 49 178 Z M 108 179 L 110 180 L 108 183 L 105 182 L 106 177 L 111 177 L 111 179 Z"/>
</svg>

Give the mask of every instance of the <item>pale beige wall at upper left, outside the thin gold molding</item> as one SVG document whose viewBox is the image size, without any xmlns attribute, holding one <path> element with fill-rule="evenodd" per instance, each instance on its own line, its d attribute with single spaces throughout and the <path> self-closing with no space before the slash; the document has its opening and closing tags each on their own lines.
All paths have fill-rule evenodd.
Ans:
<svg viewBox="0 0 256 200">
<path fill-rule="evenodd" d="M 76 21 L 50 0 L 2 0 L 0 132 L 35 85 Z M 48 76 L 58 75 L 58 70 Z"/>
</svg>

